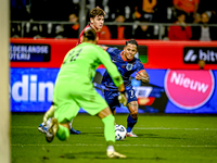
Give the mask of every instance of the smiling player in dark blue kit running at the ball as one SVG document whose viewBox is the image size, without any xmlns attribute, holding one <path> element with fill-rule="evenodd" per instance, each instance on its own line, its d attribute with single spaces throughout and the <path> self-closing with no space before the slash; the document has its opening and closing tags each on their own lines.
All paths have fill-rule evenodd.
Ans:
<svg viewBox="0 0 217 163">
<path fill-rule="evenodd" d="M 138 137 L 136 134 L 132 133 L 132 128 L 138 121 L 138 102 L 135 90 L 131 86 L 130 76 L 136 73 L 135 78 L 137 80 L 141 80 L 143 83 L 150 82 L 149 75 L 146 74 L 140 59 L 135 58 L 135 54 L 137 53 L 138 42 L 135 39 L 126 41 L 124 50 L 103 46 L 100 47 L 110 54 L 113 63 L 115 63 L 124 79 L 126 90 L 125 93 L 128 95 L 127 108 L 129 110 L 129 115 L 127 118 L 127 136 Z M 104 88 L 105 100 L 110 105 L 113 114 L 115 114 L 116 108 L 120 106 L 118 101 L 119 93 L 117 87 L 114 85 L 107 72 L 105 72 L 103 75 L 101 88 Z"/>
</svg>

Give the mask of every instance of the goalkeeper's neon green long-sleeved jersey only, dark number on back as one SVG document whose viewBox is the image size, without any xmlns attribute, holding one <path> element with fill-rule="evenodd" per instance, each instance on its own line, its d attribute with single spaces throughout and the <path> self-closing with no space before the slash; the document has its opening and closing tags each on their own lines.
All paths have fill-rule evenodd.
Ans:
<svg viewBox="0 0 217 163">
<path fill-rule="evenodd" d="M 117 87 L 123 84 L 123 78 L 116 65 L 112 63 L 107 52 L 88 42 L 82 42 L 67 52 L 59 72 L 58 80 L 65 79 L 90 83 L 100 64 L 105 66 Z"/>
</svg>

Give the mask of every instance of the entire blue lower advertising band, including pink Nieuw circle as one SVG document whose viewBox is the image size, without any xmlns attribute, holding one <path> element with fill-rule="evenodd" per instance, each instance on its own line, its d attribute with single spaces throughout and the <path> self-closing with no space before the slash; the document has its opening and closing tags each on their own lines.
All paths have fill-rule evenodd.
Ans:
<svg viewBox="0 0 217 163">
<path fill-rule="evenodd" d="M 11 68 L 12 112 L 46 112 L 59 68 Z M 97 70 L 100 84 L 104 68 Z M 146 70 L 150 84 L 132 76 L 139 113 L 217 113 L 217 71 Z M 100 89 L 97 91 L 103 97 Z M 85 112 L 82 109 L 80 112 Z M 128 113 L 127 108 L 117 113 Z"/>
</svg>

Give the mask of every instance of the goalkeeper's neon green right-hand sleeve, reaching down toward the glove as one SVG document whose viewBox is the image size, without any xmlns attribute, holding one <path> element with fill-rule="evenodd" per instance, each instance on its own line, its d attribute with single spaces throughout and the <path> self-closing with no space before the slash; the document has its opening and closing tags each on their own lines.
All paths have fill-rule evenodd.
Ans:
<svg viewBox="0 0 217 163">
<path fill-rule="evenodd" d="M 99 47 L 98 47 L 99 48 Z M 114 84 L 116 87 L 119 87 L 124 83 L 122 75 L 119 74 L 116 65 L 112 62 L 110 55 L 107 52 L 105 52 L 103 49 L 99 48 L 98 55 L 102 64 L 105 66 L 107 73 L 112 77 Z"/>
</svg>

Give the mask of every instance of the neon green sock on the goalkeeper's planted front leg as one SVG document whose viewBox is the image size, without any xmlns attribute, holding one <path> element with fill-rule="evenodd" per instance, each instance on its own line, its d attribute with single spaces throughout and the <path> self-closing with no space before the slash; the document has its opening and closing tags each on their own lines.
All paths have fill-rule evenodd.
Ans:
<svg viewBox="0 0 217 163">
<path fill-rule="evenodd" d="M 107 142 L 115 142 L 115 117 L 110 114 L 102 118 L 104 123 L 104 136 Z"/>
</svg>

